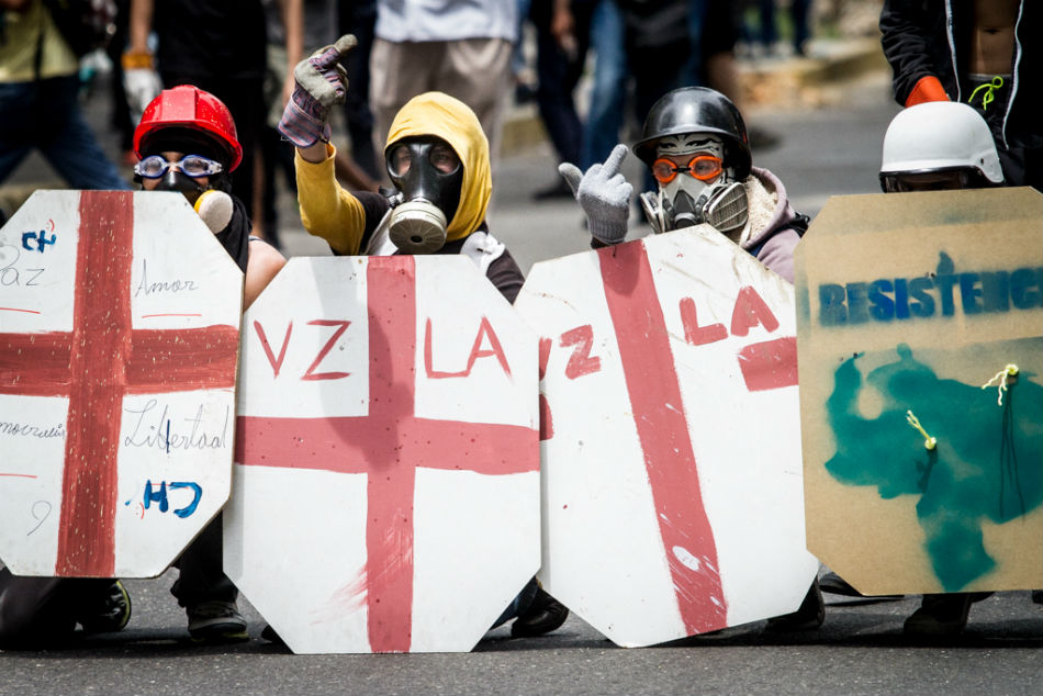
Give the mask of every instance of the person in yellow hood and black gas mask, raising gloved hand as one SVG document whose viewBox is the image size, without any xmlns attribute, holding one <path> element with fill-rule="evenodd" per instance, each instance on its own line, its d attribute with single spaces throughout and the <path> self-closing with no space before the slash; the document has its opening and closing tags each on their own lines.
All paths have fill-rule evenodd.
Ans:
<svg viewBox="0 0 1043 696">
<path fill-rule="evenodd" d="M 427 92 L 399 111 L 384 148 L 394 195 L 348 192 L 337 182 L 326 114 L 343 99 L 336 66 L 352 45 L 347 38 L 298 66 L 298 88 L 279 124 L 298 148 L 304 228 L 340 255 L 463 254 L 514 302 L 525 279 L 504 245 L 489 234 L 489 142 L 467 104 Z"/>
</svg>

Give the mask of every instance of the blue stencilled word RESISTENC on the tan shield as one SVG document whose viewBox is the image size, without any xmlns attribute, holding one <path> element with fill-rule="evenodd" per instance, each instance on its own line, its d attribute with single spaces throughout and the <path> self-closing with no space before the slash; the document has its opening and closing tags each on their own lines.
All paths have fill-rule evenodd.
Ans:
<svg viewBox="0 0 1043 696">
<path fill-rule="evenodd" d="M 1043 306 L 1043 268 L 957 273 L 949 255 L 940 256 L 928 276 L 819 285 L 819 322 L 843 326 L 953 316 L 957 307 L 973 315 Z"/>
</svg>

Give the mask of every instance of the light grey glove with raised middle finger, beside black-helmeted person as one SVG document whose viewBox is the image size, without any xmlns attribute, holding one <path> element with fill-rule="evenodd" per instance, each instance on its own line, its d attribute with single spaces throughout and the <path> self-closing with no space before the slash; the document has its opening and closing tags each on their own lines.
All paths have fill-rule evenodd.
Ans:
<svg viewBox="0 0 1043 696">
<path fill-rule="evenodd" d="M 627 236 L 630 195 L 633 187 L 619 173 L 630 149 L 619 144 L 604 165 L 592 165 L 586 173 L 569 162 L 558 165 L 558 173 L 569 182 L 580 207 L 586 213 L 591 235 L 605 244 L 619 244 Z"/>
</svg>

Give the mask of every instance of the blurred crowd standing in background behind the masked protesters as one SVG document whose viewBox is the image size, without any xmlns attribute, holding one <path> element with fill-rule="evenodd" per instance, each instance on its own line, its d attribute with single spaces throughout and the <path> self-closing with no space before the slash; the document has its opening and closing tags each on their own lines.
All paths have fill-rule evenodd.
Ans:
<svg viewBox="0 0 1043 696">
<path fill-rule="evenodd" d="M 882 4 L 0 0 L 0 216 L 37 188 L 133 187 L 133 133 L 144 105 L 162 87 L 191 83 L 232 110 L 244 146 L 235 193 L 253 212 L 255 234 L 280 246 L 279 231 L 300 226 L 285 214 L 279 220 L 277 204 L 295 187 L 292 146 L 274 128 L 292 66 L 345 33 L 359 40 L 344 61 L 350 87 L 334 119 L 347 188 L 386 181 L 391 117 L 413 94 L 437 89 L 478 113 L 494 180 L 501 156 L 546 142 L 546 186 L 531 200 L 567 198 L 558 162 L 603 161 L 633 139 L 665 92 L 705 85 L 740 109 L 785 98 L 783 83 L 743 79 L 741 68 L 814 60 L 837 43 L 875 38 Z M 70 34 L 61 5 L 66 13 L 87 8 L 90 32 L 81 25 Z M 76 32 L 96 41 L 74 45 Z M 781 137 L 751 128 L 755 148 Z"/>
</svg>

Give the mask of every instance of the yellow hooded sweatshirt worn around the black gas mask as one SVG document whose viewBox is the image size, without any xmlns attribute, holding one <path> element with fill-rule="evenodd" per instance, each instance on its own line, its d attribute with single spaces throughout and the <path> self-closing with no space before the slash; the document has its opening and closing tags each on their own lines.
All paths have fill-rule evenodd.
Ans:
<svg viewBox="0 0 1043 696">
<path fill-rule="evenodd" d="M 434 135 L 449 143 L 463 164 L 460 203 L 449 221 L 447 242 L 462 239 L 485 220 L 493 183 L 489 165 L 489 141 L 470 106 L 442 92 L 425 92 L 399 110 L 388 134 L 386 153 L 399 141 Z M 322 237 L 337 254 L 352 256 L 361 250 L 366 229 L 362 204 L 337 183 L 332 145 L 325 160 L 312 164 L 298 153 L 294 159 L 301 222 L 309 233 Z"/>
</svg>

